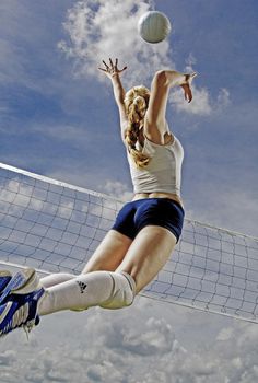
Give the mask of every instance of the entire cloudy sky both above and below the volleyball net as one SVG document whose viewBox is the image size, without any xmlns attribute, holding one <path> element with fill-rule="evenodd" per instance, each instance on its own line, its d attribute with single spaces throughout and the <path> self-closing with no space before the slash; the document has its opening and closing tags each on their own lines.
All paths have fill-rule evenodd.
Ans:
<svg viewBox="0 0 258 383">
<path fill-rule="evenodd" d="M 173 25 L 156 46 L 137 33 L 152 9 Z M 173 91 L 167 108 L 186 152 L 187 217 L 258 236 L 257 19 L 256 0 L 1 0 L 0 162 L 130 198 L 112 88 L 97 67 L 118 57 L 127 89 L 150 86 L 161 68 L 195 70 L 194 102 Z M 30 343 L 19 332 L 1 341 L 2 382 L 258 378 L 257 325 L 142 298 L 121 312 L 42 322 Z"/>
</svg>

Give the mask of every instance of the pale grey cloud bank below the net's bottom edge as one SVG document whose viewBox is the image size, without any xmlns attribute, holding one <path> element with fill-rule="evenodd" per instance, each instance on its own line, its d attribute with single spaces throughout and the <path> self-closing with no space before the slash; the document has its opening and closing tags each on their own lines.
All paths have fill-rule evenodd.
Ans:
<svg viewBox="0 0 258 383">
<path fill-rule="evenodd" d="M 89 383 L 254 383 L 257 341 L 255 324 L 140 299 L 120 311 L 92 309 L 44 317 L 28 343 L 21 330 L 10 334 L 0 343 L 1 378 L 45 383 L 81 376 Z"/>
</svg>

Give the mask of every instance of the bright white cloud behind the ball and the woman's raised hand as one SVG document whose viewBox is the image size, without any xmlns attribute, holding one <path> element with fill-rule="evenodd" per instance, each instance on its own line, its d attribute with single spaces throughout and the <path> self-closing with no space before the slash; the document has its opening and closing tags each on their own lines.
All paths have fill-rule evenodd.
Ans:
<svg viewBox="0 0 258 383">
<path fill-rule="evenodd" d="M 148 82 L 155 70 L 171 67 L 168 42 L 157 45 L 144 43 L 137 32 L 140 16 L 151 9 L 149 1 L 90 1 L 75 3 L 69 10 L 64 28 L 69 42 L 60 42 L 59 48 L 74 59 L 74 73 L 79 76 L 105 76 L 97 71 L 102 59 L 118 57 L 120 66 L 128 65 L 124 82 Z"/>
</svg>

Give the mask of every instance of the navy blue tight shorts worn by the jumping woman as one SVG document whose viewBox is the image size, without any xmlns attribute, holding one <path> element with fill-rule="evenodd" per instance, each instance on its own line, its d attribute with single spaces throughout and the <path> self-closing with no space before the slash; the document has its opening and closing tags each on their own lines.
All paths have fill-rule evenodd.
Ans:
<svg viewBox="0 0 258 383">
<path fill-rule="evenodd" d="M 169 198 L 138 199 L 121 208 L 112 229 L 134 240 L 141 229 L 153 224 L 168 229 L 178 242 L 184 216 L 183 207 Z"/>
</svg>

